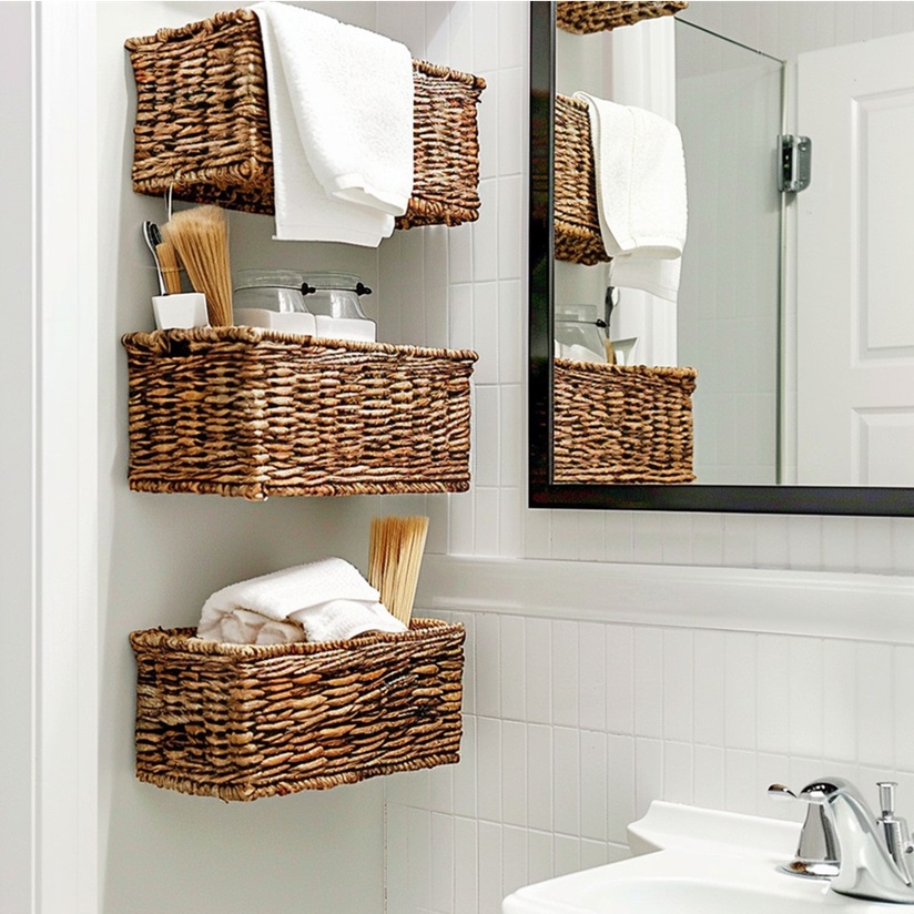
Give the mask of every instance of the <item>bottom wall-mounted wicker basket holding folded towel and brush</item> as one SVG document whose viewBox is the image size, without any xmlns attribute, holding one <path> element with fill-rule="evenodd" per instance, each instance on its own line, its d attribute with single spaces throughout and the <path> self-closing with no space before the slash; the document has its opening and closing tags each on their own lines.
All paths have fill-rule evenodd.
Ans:
<svg viewBox="0 0 914 914">
<path fill-rule="evenodd" d="M 247 801 L 459 761 L 460 624 L 268 647 L 194 634 L 131 632 L 141 781 Z"/>
</svg>

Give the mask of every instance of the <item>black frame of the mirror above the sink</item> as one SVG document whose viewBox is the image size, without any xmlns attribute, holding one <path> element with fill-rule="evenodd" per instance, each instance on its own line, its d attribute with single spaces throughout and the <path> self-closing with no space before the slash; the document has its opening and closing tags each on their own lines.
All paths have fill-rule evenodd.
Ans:
<svg viewBox="0 0 914 914">
<path fill-rule="evenodd" d="M 531 508 L 914 516 L 914 488 L 552 481 L 555 2 L 530 2 L 528 504 Z M 637 28 L 637 27 L 629 27 Z"/>
</svg>

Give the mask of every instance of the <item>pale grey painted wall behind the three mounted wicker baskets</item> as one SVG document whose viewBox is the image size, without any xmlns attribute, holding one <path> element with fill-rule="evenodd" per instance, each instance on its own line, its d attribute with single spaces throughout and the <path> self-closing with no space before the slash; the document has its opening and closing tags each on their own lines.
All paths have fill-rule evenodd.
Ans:
<svg viewBox="0 0 914 914">
<path fill-rule="evenodd" d="M 380 781 L 224 804 L 159 790 L 133 776 L 131 630 L 194 624 L 206 596 L 252 575 L 324 555 L 367 565 L 367 515 L 360 510 L 369 507 L 353 510 L 358 499 L 248 504 L 217 496 L 138 494 L 126 486 L 126 359 L 120 337 L 153 326 L 154 273 L 141 224 L 145 219 L 163 222 L 165 207 L 161 199 L 131 190 L 133 78 L 123 42 L 237 6 L 128 2 L 98 8 L 99 910 L 379 914 Z M 357 24 L 375 27 L 373 2 L 347 4 L 345 12 Z M 271 223 L 232 216 L 234 268 L 321 265 L 352 270 L 375 286 L 374 250 L 272 242 Z"/>
</svg>

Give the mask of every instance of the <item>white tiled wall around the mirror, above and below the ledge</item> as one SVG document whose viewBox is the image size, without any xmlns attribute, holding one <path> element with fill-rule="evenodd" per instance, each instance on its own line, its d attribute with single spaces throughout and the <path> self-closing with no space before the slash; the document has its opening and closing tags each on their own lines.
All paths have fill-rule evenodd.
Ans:
<svg viewBox="0 0 914 914">
<path fill-rule="evenodd" d="M 569 588 L 577 561 L 914 573 L 912 519 L 527 509 L 527 4 L 378 7 L 415 55 L 488 82 L 480 220 L 399 233 L 379 253 L 382 338 L 438 345 L 446 334 L 480 353 L 474 488 L 425 500 L 445 528 L 433 551 L 560 558 Z M 849 14 L 835 11 L 835 39 Z M 791 19 L 755 22 L 779 38 Z M 424 307 L 388 306 L 417 271 Z M 861 783 L 892 773 L 914 795 L 914 648 L 689 629 L 687 619 L 673 630 L 455 618 L 468 630 L 463 761 L 386 779 L 390 914 L 497 914 L 524 883 L 624 854 L 627 823 L 657 798 L 785 815 L 764 786 L 824 768 Z"/>
</svg>

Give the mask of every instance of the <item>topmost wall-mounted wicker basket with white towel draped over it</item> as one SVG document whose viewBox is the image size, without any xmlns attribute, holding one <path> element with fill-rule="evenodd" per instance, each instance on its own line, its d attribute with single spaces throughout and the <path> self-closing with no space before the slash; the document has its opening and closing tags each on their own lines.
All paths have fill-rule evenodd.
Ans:
<svg viewBox="0 0 914 914">
<path fill-rule="evenodd" d="M 133 190 L 273 213 L 273 150 L 260 22 L 220 12 L 129 39 L 136 83 Z M 414 185 L 396 221 L 459 225 L 479 215 L 476 105 L 485 80 L 413 62 Z"/>
</svg>

